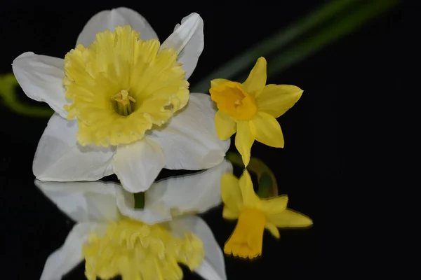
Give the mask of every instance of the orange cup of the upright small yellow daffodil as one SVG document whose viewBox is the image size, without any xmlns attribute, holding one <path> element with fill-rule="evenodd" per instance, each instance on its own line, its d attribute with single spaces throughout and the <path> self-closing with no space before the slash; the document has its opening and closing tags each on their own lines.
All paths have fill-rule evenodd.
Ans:
<svg viewBox="0 0 421 280">
<path fill-rule="evenodd" d="M 250 120 L 258 112 L 254 97 L 243 90 L 241 83 L 228 81 L 209 92 L 218 109 L 236 120 Z"/>
</svg>

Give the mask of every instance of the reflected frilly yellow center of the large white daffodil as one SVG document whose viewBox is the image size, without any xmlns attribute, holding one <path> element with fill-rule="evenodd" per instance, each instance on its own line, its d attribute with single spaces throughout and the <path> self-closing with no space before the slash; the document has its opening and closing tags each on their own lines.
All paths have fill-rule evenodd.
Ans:
<svg viewBox="0 0 421 280">
<path fill-rule="evenodd" d="M 192 233 L 171 235 L 162 224 L 125 218 L 111 223 L 103 237 L 92 233 L 83 246 L 86 278 L 124 280 L 182 279 L 178 262 L 195 269 L 204 257 L 203 242 Z"/>
</svg>

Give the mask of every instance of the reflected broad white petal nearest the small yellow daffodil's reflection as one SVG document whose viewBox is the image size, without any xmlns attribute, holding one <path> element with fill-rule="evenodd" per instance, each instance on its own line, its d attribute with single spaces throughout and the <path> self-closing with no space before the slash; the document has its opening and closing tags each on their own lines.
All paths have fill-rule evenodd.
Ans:
<svg viewBox="0 0 421 280">
<path fill-rule="evenodd" d="M 232 173 L 232 165 L 224 160 L 204 172 L 154 183 L 145 193 L 146 207 L 173 209 L 177 214 L 203 213 L 222 202 L 221 178 L 226 172 Z"/>
</svg>

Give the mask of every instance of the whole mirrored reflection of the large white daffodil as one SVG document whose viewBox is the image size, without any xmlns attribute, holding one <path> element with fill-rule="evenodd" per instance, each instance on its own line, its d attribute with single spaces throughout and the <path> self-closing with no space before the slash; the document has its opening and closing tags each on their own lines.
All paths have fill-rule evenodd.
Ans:
<svg viewBox="0 0 421 280">
<path fill-rule="evenodd" d="M 220 204 L 225 172 L 232 172 L 229 162 L 154 183 L 145 193 L 142 210 L 133 208 L 133 194 L 117 183 L 36 180 L 36 186 L 76 221 L 62 247 L 46 260 L 41 280 L 62 279 L 83 259 L 89 280 L 117 275 L 123 280 L 158 275 L 182 279 L 177 262 L 204 279 L 227 279 L 215 237 L 201 218 L 192 215 Z M 174 218 L 158 223 L 171 219 L 169 212 Z"/>
</svg>

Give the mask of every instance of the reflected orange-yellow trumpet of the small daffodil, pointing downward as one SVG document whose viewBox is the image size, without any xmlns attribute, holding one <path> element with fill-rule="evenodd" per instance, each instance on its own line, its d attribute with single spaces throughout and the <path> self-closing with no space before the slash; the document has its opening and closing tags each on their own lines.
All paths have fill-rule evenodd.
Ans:
<svg viewBox="0 0 421 280">
<path fill-rule="evenodd" d="M 234 232 L 224 246 L 227 255 L 256 258 L 262 255 L 263 232 L 266 216 L 255 209 L 243 209 Z"/>
</svg>

